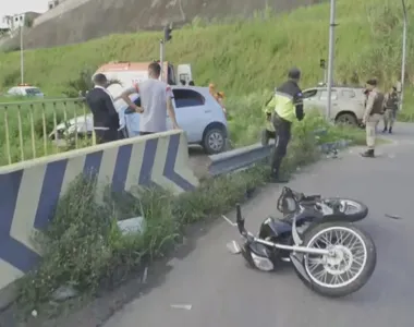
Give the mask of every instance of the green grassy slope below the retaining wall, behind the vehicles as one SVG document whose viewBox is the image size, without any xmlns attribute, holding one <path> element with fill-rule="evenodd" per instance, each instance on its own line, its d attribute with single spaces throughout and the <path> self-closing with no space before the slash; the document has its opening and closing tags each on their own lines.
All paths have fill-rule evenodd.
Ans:
<svg viewBox="0 0 414 327">
<path fill-rule="evenodd" d="M 407 0 L 409 4 L 414 0 Z M 383 86 L 394 83 L 401 65 L 402 10 L 395 0 L 339 0 L 337 5 L 338 83 L 360 83 L 377 76 Z M 303 71 L 303 87 L 321 80 L 319 59 L 327 57 L 329 5 L 303 8 L 289 14 L 257 13 L 249 21 L 206 25 L 195 20 L 173 33 L 167 59 L 191 62 L 198 85 L 215 82 L 228 95 L 232 136 L 238 144 L 257 140 L 261 105 L 292 65 Z M 410 28 L 409 35 L 414 32 Z M 158 57 L 157 33 L 111 35 L 80 45 L 25 53 L 27 82 L 60 96 L 69 80 L 84 68 L 110 60 L 145 61 Z M 413 47 L 409 44 L 407 74 L 412 77 Z M 19 52 L 0 53 L 0 87 L 19 83 Z M 406 93 L 405 119 L 414 112 Z M 247 130 L 247 133 L 246 133 Z M 3 134 L 3 133 L 2 133 Z M 1 140 L 0 140 L 1 141 Z M 1 142 L 0 142 L 1 143 Z"/>
</svg>

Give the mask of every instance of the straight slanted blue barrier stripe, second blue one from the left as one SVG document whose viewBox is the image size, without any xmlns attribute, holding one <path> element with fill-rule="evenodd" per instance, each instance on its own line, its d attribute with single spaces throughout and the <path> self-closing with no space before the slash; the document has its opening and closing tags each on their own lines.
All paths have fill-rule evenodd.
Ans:
<svg viewBox="0 0 414 327">
<path fill-rule="evenodd" d="M 44 184 L 41 185 L 39 204 L 35 216 L 35 228 L 42 230 L 53 218 L 60 197 L 68 159 L 49 162 L 46 166 Z"/>
</svg>

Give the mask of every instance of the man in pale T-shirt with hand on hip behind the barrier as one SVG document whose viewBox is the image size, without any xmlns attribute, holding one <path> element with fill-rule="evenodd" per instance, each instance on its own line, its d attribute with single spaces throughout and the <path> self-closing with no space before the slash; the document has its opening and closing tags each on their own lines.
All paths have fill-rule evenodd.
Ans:
<svg viewBox="0 0 414 327">
<path fill-rule="evenodd" d="M 139 135 L 147 135 L 167 131 L 167 113 L 172 121 L 173 129 L 180 129 L 175 119 L 171 87 L 159 81 L 161 66 L 153 62 L 148 66 L 148 80 L 136 83 L 122 93 L 122 98 L 133 110 L 141 114 Z M 141 107 L 131 101 L 130 95 L 139 94 Z"/>
</svg>

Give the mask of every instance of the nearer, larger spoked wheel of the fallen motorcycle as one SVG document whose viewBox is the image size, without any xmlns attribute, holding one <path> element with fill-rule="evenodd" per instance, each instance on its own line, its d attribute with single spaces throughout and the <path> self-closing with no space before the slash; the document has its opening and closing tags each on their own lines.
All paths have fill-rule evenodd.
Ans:
<svg viewBox="0 0 414 327">
<path fill-rule="evenodd" d="M 336 256 L 303 256 L 307 278 L 296 269 L 302 281 L 315 292 L 341 298 L 360 290 L 370 278 L 377 263 L 372 238 L 348 222 L 326 222 L 304 234 L 303 246 L 336 249 Z"/>
</svg>

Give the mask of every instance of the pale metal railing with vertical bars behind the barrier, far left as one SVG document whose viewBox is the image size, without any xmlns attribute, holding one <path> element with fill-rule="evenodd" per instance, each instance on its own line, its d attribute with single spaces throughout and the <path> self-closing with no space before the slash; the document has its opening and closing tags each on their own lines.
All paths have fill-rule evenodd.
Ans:
<svg viewBox="0 0 414 327">
<path fill-rule="evenodd" d="M 84 98 L 0 102 L 0 166 L 95 144 L 88 113 Z"/>
</svg>

